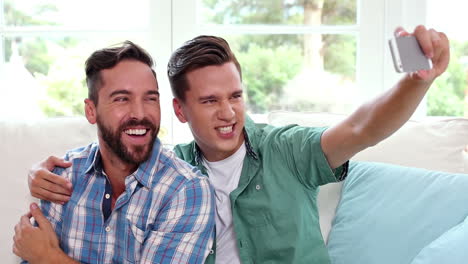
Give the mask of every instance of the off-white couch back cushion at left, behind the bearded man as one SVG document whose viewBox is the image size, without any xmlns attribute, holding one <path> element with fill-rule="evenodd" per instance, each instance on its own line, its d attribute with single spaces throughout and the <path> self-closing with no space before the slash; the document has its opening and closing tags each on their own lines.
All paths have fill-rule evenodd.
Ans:
<svg viewBox="0 0 468 264">
<path fill-rule="evenodd" d="M 31 166 L 49 155 L 63 156 L 69 149 L 96 139 L 96 128 L 84 117 L 50 118 L 37 121 L 0 122 L 0 256 L 2 263 L 18 263 L 11 252 L 14 226 L 33 200 L 27 174 Z"/>
</svg>

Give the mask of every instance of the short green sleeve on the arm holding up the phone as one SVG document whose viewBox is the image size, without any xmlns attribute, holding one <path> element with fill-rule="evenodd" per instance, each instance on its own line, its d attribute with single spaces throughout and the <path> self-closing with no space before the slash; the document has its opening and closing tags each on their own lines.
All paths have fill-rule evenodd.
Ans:
<svg viewBox="0 0 468 264">
<path fill-rule="evenodd" d="M 326 129 L 291 125 L 279 128 L 274 137 L 278 152 L 307 188 L 341 181 L 347 175 L 348 162 L 336 169 L 328 164 L 321 145 Z"/>
</svg>

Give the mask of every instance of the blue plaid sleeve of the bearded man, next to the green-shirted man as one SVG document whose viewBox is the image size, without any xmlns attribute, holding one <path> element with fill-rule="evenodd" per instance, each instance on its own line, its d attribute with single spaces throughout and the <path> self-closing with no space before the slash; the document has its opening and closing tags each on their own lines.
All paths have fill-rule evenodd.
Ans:
<svg viewBox="0 0 468 264">
<path fill-rule="evenodd" d="M 183 186 L 162 208 L 141 263 L 204 263 L 213 243 L 214 198 L 207 178 Z"/>
</svg>

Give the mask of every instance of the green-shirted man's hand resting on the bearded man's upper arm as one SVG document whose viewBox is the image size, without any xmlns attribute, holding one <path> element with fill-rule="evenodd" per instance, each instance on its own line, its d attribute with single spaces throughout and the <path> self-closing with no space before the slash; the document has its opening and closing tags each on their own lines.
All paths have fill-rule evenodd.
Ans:
<svg viewBox="0 0 468 264">
<path fill-rule="evenodd" d="M 69 180 L 52 173 L 55 167 L 68 168 L 71 163 L 54 156 L 34 165 L 28 174 L 31 195 L 53 203 L 63 204 L 70 200 L 72 184 Z"/>
</svg>

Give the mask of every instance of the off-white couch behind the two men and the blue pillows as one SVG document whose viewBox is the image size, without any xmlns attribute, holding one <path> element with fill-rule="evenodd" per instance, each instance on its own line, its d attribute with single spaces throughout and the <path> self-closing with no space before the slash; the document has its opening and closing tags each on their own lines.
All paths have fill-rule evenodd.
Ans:
<svg viewBox="0 0 468 264">
<path fill-rule="evenodd" d="M 297 123 L 307 126 L 330 125 L 341 115 L 275 112 L 269 115 L 273 125 Z M 27 187 L 27 173 L 32 164 L 54 154 L 95 140 L 95 127 L 84 118 L 56 118 L 42 121 L 0 121 L 0 259 L 17 263 L 12 253 L 14 226 L 33 200 Z M 359 153 L 355 160 L 379 161 L 404 166 L 468 173 L 468 119 L 438 118 L 409 122 L 390 138 Z M 321 188 L 318 203 L 320 224 L 325 239 L 330 231 L 341 184 Z"/>
</svg>

